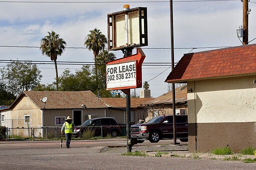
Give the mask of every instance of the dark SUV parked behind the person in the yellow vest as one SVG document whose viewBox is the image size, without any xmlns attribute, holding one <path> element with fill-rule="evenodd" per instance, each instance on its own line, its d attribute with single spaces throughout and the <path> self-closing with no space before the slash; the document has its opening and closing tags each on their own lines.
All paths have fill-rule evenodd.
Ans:
<svg viewBox="0 0 256 170">
<path fill-rule="evenodd" d="M 86 129 L 91 129 L 95 131 L 94 136 L 106 136 L 110 134 L 112 137 L 117 137 L 120 135 L 120 127 L 113 118 L 94 118 L 88 119 L 81 125 L 76 126 L 73 131 L 74 137 L 79 137 Z"/>
</svg>

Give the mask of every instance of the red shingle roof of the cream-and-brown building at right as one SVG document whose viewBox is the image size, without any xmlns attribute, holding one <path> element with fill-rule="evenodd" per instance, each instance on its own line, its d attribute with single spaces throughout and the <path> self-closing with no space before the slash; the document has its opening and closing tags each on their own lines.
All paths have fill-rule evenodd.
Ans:
<svg viewBox="0 0 256 170">
<path fill-rule="evenodd" d="M 256 74 L 256 44 L 184 54 L 165 82 Z"/>
</svg>

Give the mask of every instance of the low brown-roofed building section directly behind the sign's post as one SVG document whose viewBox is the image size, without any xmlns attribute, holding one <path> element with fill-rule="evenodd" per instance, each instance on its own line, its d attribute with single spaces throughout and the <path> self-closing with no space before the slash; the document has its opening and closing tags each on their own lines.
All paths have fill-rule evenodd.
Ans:
<svg viewBox="0 0 256 170">
<path fill-rule="evenodd" d="M 107 117 L 115 116 L 115 120 L 126 123 L 126 98 L 100 98 L 107 105 Z M 130 122 L 137 124 L 139 120 L 147 117 L 147 108 L 142 103 L 153 98 L 130 98 Z M 117 116 L 118 115 L 118 116 Z"/>
</svg>

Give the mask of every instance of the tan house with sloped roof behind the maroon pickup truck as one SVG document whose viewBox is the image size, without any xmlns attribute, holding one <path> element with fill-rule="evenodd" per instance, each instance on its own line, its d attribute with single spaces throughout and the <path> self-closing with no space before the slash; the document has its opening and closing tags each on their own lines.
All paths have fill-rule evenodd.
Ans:
<svg viewBox="0 0 256 170">
<path fill-rule="evenodd" d="M 187 114 L 186 91 L 186 84 L 175 89 L 176 115 Z M 141 105 L 147 107 L 148 119 L 160 115 L 172 115 L 172 91 L 169 91 L 159 97 L 144 102 Z"/>
</svg>

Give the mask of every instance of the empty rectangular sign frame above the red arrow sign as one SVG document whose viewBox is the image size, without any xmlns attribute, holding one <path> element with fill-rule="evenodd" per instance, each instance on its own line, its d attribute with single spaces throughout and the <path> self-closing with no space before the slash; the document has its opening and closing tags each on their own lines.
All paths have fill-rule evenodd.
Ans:
<svg viewBox="0 0 256 170">
<path fill-rule="evenodd" d="M 125 40 L 125 14 L 128 16 Z M 146 7 L 136 7 L 107 14 L 108 50 L 119 50 L 147 45 Z"/>
</svg>

